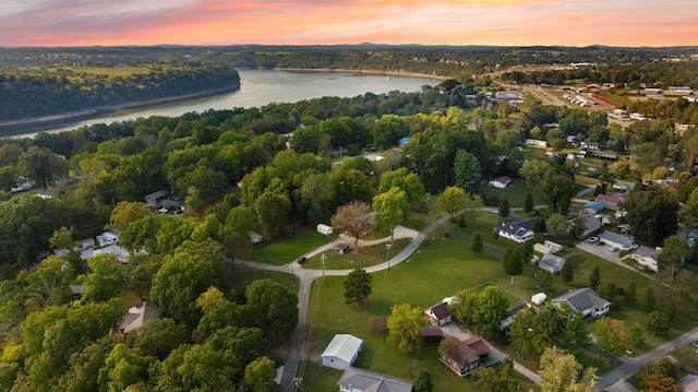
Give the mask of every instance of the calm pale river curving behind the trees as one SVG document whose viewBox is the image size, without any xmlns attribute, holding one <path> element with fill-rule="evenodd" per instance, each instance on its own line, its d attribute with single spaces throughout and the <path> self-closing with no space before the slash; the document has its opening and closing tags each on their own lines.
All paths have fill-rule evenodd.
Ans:
<svg viewBox="0 0 698 392">
<path fill-rule="evenodd" d="M 62 132 L 94 123 L 110 123 L 156 115 L 178 117 L 192 111 L 262 107 L 270 103 L 294 103 L 324 96 L 356 97 L 365 93 L 384 94 L 392 91 L 410 93 L 420 91 L 425 84 L 434 86 L 441 83 L 441 80 L 431 78 L 349 72 L 240 70 L 239 73 L 241 86 L 232 93 L 145 108 L 116 110 L 84 120 L 8 127 L 0 132 L 4 136 L 33 136 L 38 132 Z"/>
</svg>

